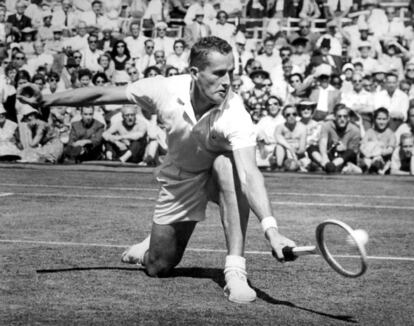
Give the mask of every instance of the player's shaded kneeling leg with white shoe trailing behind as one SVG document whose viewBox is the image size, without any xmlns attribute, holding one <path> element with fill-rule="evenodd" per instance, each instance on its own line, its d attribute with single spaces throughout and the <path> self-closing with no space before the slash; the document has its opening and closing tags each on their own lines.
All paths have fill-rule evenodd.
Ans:
<svg viewBox="0 0 414 326">
<path fill-rule="evenodd" d="M 196 223 L 153 223 L 151 235 L 126 250 L 122 261 L 145 267 L 149 276 L 168 275 L 181 261 Z"/>
</svg>

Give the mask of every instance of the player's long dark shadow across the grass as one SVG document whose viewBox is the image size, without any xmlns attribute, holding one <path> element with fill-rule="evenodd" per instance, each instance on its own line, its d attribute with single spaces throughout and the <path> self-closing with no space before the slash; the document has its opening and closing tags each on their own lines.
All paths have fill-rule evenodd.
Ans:
<svg viewBox="0 0 414 326">
<path fill-rule="evenodd" d="M 141 270 L 137 269 L 136 266 L 135 267 L 117 267 L 117 266 L 113 266 L 113 267 L 111 266 L 71 267 L 71 268 L 55 268 L 55 269 L 38 269 L 36 270 L 36 272 L 39 274 L 47 274 L 47 273 L 76 272 L 76 271 L 90 271 L 90 270 L 121 270 L 121 271 L 145 272 L 142 269 Z M 168 277 L 191 277 L 191 278 L 200 278 L 200 279 L 211 279 L 215 283 L 217 283 L 221 288 L 224 288 L 225 286 L 223 270 L 220 268 L 178 267 L 178 268 L 175 268 Z M 313 314 L 317 314 L 319 316 L 341 320 L 341 321 L 348 322 L 348 323 L 354 323 L 354 324 L 358 323 L 358 321 L 353 316 L 328 314 L 322 311 L 317 311 L 314 309 L 297 306 L 290 301 L 283 301 L 283 300 L 275 299 L 271 297 L 270 295 L 268 295 L 266 292 L 256 287 L 252 286 L 252 288 L 256 291 L 257 297 L 259 299 L 262 299 L 263 301 L 273 304 L 273 305 L 291 307 L 291 308 L 307 311 Z"/>
</svg>

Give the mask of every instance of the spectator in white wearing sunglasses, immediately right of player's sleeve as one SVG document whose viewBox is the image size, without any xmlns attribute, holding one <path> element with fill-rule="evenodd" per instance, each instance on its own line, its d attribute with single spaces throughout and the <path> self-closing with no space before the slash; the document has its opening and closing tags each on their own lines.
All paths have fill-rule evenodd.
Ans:
<svg viewBox="0 0 414 326">
<path fill-rule="evenodd" d="M 266 101 L 267 114 L 260 118 L 256 125 L 257 150 L 256 160 L 259 167 L 271 167 L 271 157 L 276 147 L 276 127 L 285 122 L 281 112 L 282 101 L 276 96 L 270 96 Z"/>
</svg>

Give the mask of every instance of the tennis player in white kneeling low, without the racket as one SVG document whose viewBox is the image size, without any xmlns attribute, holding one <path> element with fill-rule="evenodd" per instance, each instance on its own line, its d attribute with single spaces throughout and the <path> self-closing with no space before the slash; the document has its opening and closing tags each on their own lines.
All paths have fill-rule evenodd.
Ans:
<svg viewBox="0 0 414 326">
<path fill-rule="evenodd" d="M 239 95 L 231 91 L 231 46 L 202 38 L 191 49 L 190 73 L 157 76 L 121 87 L 93 87 L 35 96 L 25 88 L 19 99 L 34 106 L 135 103 L 166 126 L 168 154 L 158 171 L 160 192 L 151 235 L 122 255 L 149 276 L 165 276 L 180 262 L 209 200 L 220 206 L 228 254 L 225 294 L 230 301 L 256 299 L 247 282 L 244 245 L 250 209 L 261 221 L 275 257 L 295 243 L 278 232 L 264 178 L 256 166 L 255 133 Z M 36 90 L 35 86 L 31 86 Z M 33 89 L 31 89 L 33 92 Z"/>
</svg>

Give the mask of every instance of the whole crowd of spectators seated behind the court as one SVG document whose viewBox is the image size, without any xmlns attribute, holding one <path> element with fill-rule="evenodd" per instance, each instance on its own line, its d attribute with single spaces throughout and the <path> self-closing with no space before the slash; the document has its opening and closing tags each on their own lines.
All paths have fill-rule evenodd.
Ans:
<svg viewBox="0 0 414 326">
<path fill-rule="evenodd" d="M 267 170 L 414 174 L 414 1 L 0 0 L 0 159 L 157 165 L 168 150 L 135 105 L 34 109 L 16 99 L 188 72 L 215 35 Z M 403 11 L 400 9 L 403 8 Z"/>
</svg>

